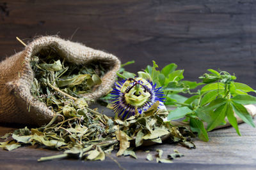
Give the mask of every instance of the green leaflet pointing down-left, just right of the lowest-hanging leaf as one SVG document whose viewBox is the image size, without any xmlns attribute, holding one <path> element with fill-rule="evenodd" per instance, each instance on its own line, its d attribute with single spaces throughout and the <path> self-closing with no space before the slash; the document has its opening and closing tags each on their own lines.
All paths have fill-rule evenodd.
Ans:
<svg viewBox="0 0 256 170">
<path fill-rule="evenodd" d="M 218 125 L 225 122 L 227 108 L 228 108 L 228 103 L 225 103 L 225 104 L 221 105 L 220 107 L 216 108 L 216 110 L 214 112 L 210 113 L 211 119 L 207 120 L 207 131 L 211 131 Z"/>
</svg>

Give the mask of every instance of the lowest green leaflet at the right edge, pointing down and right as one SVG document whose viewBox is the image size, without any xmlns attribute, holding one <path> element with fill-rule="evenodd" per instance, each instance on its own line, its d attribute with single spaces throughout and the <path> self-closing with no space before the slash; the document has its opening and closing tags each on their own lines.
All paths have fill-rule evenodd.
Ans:
<svg viewBox="0 0 256 170">
<path fill-rule="evenodd" d="M 234 109 L 237 116 L 239 116 L 246 124 L 251 125 L 252 127 L 255 127 L 255 124 L 253 122 L 252 116 L 246 108 L 242 104 L 236 103 L 235 101 L 232 102 L 232 108 Z"/>
</svg>

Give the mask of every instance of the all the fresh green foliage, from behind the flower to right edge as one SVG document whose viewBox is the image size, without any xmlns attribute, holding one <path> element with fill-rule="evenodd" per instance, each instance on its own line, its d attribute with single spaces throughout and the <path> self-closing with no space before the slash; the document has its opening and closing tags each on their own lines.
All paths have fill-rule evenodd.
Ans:
<svg viewBox="0 0 256 170">
<path fill-rule="evenodd" d="M 252 116 L 244 108 L 245 104 L 256 104 L 256 97 L 248 94 L 255 90 L 244 83 L 235 82 L 235 75 L 226 71 L 208 69 L 210 73 L 200 76 L 202 83 L 197 83 L 184 81 L 184 70 L 176 70 L 177 65 L 174 63 L 163 67 L 161 71 L 157 68 L 156 62 L 153 61 L 153 66 L 147 66 L 145 70 L 139 71 L 138 76 L 153 81 L 163 88 L 166 94 L 166 106 L 177 106 L 175 110 L 170 111 L 168 121 L 184 118 L 183 121 L 188 122 L 191 131 L 196 132 L 198 138 L 203 141 L 209 140 L 207 132 L 226 124 L 225 118 L 241 136 L 235 113 L 244 122 L 255 127 Z M 136 74 L 122 69 L 118 76 L 131 78 Z M 200 85 L 204 86 L 197 92 L 191 92 Z M 190 94 L 191 97 L 184 97 L 180 93 Z M 205 124 L 207 124 L 206 128 Z"/>
</svg>

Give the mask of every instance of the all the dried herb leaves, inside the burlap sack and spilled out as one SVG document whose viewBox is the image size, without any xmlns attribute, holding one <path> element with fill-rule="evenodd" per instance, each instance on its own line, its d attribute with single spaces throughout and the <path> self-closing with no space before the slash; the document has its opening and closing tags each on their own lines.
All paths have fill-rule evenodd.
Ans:
<svg viewBox="0 0 256 170">
<path fill-rule="evenodd" d="M 31 94 L 50 107 L 55 117 L 43 127 L 26 127 L 6 134 L 3 138 L 11 139 L 0 143 L 1 148 L 13 150 L 29 144 L 64 151 L 38 161 L 70 156 L 104 160 L 106 154 L 113 150 L 118 150 L 117 156 L 131 155 L 136 158 L 134 148 L 162 143 L 163 140 L 195 148 L 189 138 L 193 136 L 191 132 L 163 121 L 168 112 L 157 110 L 158 101 L 144 113 L 127 120 L 109 118 L 97 109 L 88 108 L 88 99 L 79 95 L 91 92 L 100 85 L 100 76 L 105 69 L 99 63 L 77 66 L 51 52 L 46 57 L 37 56 L 31 60 L 35 73 Z"/>
</svg>

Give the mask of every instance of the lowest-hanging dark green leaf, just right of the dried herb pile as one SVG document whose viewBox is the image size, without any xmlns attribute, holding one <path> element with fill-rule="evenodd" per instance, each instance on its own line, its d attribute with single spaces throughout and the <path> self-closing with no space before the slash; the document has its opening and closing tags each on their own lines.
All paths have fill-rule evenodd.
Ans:
<svg viewBox="0 0 256 170">
<path fill-rule="evenodd" d="M 201 120 L 190 118 L 189 125 L 191 131 L 197 132 L 198 138 L 202 139 L 203 141 L 209 141 L 208 134 L 205 131 L 204 124 Z"/>
</svg>

